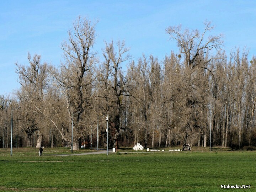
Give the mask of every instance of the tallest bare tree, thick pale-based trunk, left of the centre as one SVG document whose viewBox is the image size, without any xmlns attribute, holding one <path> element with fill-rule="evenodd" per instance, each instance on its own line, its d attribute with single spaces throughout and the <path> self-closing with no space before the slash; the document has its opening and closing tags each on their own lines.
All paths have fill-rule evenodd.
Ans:
<svg viewBox="0 0 256 192">
<path fill-rule="evenodd" d="M 97 59 L 96 53 L 92 51 L 96 37 L 95 25 L 96 22 L 88 18 L 78 17 L 73 23 L 73 30 L 68 31 L 68 41 L 64 41 L 61 46 L 65 63 L 61 65 L 59 73 L 54 74 L 57 87 L 62 90 L 66 99 L 70 123 L 74 118 L 74 150 L 79 149 L 83 133 L 89 131 L 83 122 L 86 121 L 85 114 L 90 114 L 88 110 L 95 92 L 94 65 Z M 62 137 L 70 141 L 64 134 Z"/>
</svg>

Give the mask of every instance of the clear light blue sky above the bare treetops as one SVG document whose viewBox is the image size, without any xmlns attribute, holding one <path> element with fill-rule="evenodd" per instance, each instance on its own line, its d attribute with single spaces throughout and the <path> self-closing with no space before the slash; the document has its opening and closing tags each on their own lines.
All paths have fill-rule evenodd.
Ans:
<svg viewBox="0 0 256 192">
<path fill-rule="evenodd" d="M 145 54 L 162 60 L 176 42 L 166 33 L 169 26 L 203 31 L 204 21 L 215 26 L 213 35 L 224 35 L 223 49 L 246 47 L 256 55 L 255 0 L 10 0 L 0 1 L 0 95 L 20 88 L 15 63 L 28 65 L 28 52 L 41 61 L 59 66 L 61 42 L 78 16 L 98 21 L 93 47 L 102 57 L 105 41 L 125 40 L 136 61 Z"/>
</svg>

